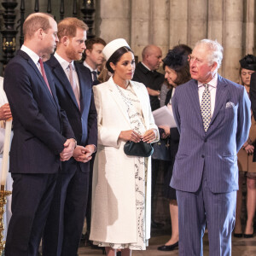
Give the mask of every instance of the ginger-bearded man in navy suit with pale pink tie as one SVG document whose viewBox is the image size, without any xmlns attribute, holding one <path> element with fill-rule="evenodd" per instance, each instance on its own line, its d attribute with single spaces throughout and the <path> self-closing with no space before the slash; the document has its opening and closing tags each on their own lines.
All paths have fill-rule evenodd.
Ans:
<svg viewBox="0 0 256 256">
<path fill-rule="evenodd" d="M 56 93 L 67 113 L 76 140 L 73 158 L 62 164 L 55 199 L 44 231 L 43 254 L 76 255 L 82 235 L 88 198 L 90 159 L 96 152 L 97 120 L 90 70 L 79 61 L 88 27 L 66 18 L 58 24 L 59 43 L 47 65 L 54 75 Z"/>
</svg>

